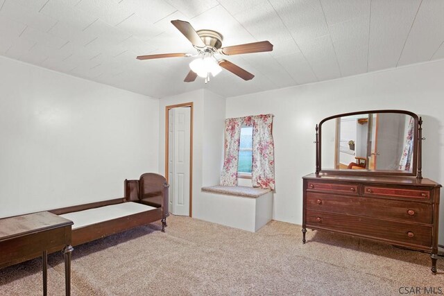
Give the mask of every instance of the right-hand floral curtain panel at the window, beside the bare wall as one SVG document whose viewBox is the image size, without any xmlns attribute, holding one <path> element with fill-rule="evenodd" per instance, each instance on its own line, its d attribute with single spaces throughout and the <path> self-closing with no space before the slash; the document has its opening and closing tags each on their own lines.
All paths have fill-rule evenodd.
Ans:
<svg viewBox="0 0 444 296">
<path fill-rule="evenodd" d="M 273 115 L 253 117 L 253 187 L 275 189 L 274 142 L 271 134 Z"/>
</svg>

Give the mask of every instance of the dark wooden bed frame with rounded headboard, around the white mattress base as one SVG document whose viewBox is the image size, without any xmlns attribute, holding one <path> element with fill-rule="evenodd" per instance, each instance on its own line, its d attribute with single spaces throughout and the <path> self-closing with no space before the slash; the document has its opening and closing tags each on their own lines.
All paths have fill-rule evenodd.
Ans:
<svg viewBox="0 0 444 296">
<path fill-rule="evenodd" d="M 94 241 L 98 238 L 124 232 L 133 227 L 146 225 L 158 220 L 162 221 L 162 232 L 164 232 L 165 227 L 167 226 L 167 217 L 169 216 L 168 189 L 169 184 L 162 175 L 144 173 L 140 176 L 139 180 L 125 180 L 124 198 L 53 209 L 50 212 L 56 215 L 62 215 L 86 209 L 106 207 L 112 204 L 120 204 L 122 202 L 138 202 L 140 204 L 155 207 L 155 209 L 147 207 L 147 211 L 141 213 L 72 229 L 71 245 L 80 245 L 82 243 Z"/>
</svg>

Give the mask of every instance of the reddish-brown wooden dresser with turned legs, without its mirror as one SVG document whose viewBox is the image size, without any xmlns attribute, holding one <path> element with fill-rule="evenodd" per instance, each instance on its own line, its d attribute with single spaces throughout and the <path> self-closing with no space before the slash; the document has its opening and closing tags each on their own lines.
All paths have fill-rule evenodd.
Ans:
<svg viewBox="0 0 444 296">
<path fill-rule="evenodd" d="M 307 175 L 302 243 L 307 228 L 370 238 L 430 253 L 436 273 L 440 187 L 416 177 Z"/>
</svg>

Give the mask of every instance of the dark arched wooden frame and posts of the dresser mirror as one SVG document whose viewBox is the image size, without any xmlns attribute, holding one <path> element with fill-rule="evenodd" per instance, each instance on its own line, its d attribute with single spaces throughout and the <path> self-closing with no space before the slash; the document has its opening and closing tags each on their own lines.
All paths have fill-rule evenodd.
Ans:
<svg viewBox="0 0 444 296">
<path fill-rule="evenodd" d="M 322 134 L 322 124 L 325 121 L 329 121 L 331 119 L 337 119 L 343 116 L 350 115 L 359 115 L 359 114 L 375 114 L 375 113 L 398 113 L 398 114 L 406 114 L 413 117 L 414 128 L 413 128 L 413 155 L 412 155 L 412 168 L 411 172 L 406 171 L 389 171 L 389 170 L 351 170 L 351 169 L 338 169 L 338 168 L 327 168 L 323 169 L 321 166 L 321 134 Z M 415 176 L 418 179 L 422 179 L 422 168 L 421 168 L 421 140 L 422 140 L 422 119 L 418 117 L 413 112 L 405 111 L 405 110 L 368 110 L 368 111 L 359 111 L 359 112 L 349 112 L 343 114 L 336 114 L 333 116 L 326 117 L 321 120 L 321 122 L 316 125 L 316 175 L 319 173 L 331 173 L 331 174 L 343 174 L 343 175 L 402 175 L 402 176 Z"/>
</svg>

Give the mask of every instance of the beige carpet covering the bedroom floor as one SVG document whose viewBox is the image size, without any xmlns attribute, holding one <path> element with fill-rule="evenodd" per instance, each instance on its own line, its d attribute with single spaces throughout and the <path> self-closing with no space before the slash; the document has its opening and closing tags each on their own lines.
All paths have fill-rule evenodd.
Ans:
<svg viewBox="0 0 444 296">
<path fill-rule="evenodd" d="M 300 226 L 268 223 L 253 234 L 173 216 L 75 247 L 72 295 L 401 295 L 441 287 L 428 254 Z M 64 295 L 63 259 L 49 256 L 49 295 Z M 0 270 L 0 295 L 41 295 L 39 259 Z M 404 291 L 405 293 L 405 291 Z"/>
</svg>

